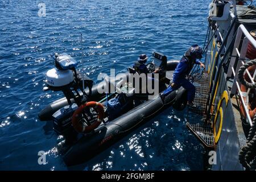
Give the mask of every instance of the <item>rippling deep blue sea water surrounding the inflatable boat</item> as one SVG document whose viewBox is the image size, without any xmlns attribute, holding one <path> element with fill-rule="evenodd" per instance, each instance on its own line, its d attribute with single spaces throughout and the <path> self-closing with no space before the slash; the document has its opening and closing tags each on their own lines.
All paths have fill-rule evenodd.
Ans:
<svg viewBox="0 0 256 182">
<path fill-rule="evenodd" d="M 56 148 L 59 137 L 37 115 L 62 93 L 43 92 L 51 56 L 66 52 L 81 60 L 93 80 L 117 72 L 141 53 L 163 52 L 180 59 L 191 44 L 203 46 L 210 1 L 1 0 L 1 170 L 201 170 L 203 147 L 185 127 L 188 111 L 172 107 L 80 166 L 68 168 Z M 46 16 L 38 15 L 45 3 Z M 81 69 L 81 64 L 79 64 Z M 199 118 L 190 114 L 189 117 Z M 47 164 L 38 164 L 38 152 Z"/>
</svg>

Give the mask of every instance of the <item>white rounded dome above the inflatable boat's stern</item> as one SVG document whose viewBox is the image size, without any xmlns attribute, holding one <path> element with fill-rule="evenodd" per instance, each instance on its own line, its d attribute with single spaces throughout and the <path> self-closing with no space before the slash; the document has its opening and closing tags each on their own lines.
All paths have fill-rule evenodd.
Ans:
<svg viewBox="0 0 256 182">
<path fill-rule="evenodd" d="M 65 86 L 74 80 L 71 70 L 59 70 L 52 68 L 46 73 L 46 82 L 49 86 Z"/>
</svg>

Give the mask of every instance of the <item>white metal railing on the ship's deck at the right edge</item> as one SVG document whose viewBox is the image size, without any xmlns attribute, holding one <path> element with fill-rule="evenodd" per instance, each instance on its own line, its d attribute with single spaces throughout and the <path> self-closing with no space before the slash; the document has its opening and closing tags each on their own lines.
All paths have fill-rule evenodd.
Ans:
<svg viewBox="0 0 256 182">
<path fill-rule="evenodd" d="M 242 46 L 240 48 L 241 42 L 242 42 Z M 243 99 L 243 94 L 242 94 L 242 91 L 240 89 L 240 84 L 241 83 L 238 79 L 238 71 L 241 68 L 241 66 L 243 64 L 245 64 L 245 61 L 246 61 L 246 52 L 247 52 L 247 46 L 248 46 L 249 43 L 254 48 L 256 48 L 256 40 L 246 30 L 245 26 L 243 26 L 243 24 L 241 24 L 238 27 L 238 30 L 237 30 L 236 40 L 234 42 L 234 47 L 233 47 L 232 56 L 231 56 L 230 63 L 229 63 L 227 77 L 234 76 L 234 80 L 233 80 L 232 89 L 230 91 L 230 94 L 234 95 L 234 94 L 236 94 L 236 92 L 238 90 L 238 97 L 240 98 L 240 100 L 242 102 L 242 107 L 243 107 L 243 110 L 245 111 L 246 120 L 247 120 L 247 122 L 250 123 L 250 125 L 252 125 L 250 114 L 249 114 L 249 109 L 247 107 L 247 104 L 246 104 L 245 100 Z M 236 63 L 237 58 L 238 58 L 238 61 Z M 247 73 L 251 83 L 254 84 L 254 79 L 255 79 L 255 76 L 256 76 L 256 70 L 254 71 L 253 77 L 251 77 L 251 75 L 250 75 L 250 73 L 247 69 L 246 69 L 246 73 Z M 250 89 L 247 89 L 247 94 L 249 92 L 250 92 Z"/>
</svg>

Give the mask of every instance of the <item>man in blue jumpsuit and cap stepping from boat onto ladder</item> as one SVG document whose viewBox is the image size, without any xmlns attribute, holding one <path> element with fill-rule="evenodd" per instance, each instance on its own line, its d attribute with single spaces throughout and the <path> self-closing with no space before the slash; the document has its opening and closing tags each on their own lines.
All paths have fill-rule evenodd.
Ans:
<svg viewBox="0 0 256 182">
<path fill-rule="evenodd" d="M 168 94 L 171 93 L 173 90 L 180 88 L 180 86 L 183 86 L 183 88 L 188 91 L 188 107 L 191 107 L 192 109 L 195 109 L 197 107 L 193 103 L 196 88 L 191 82 L 188 81 L 186 77 L 191 72 L 194 64 L 199 64 L 200 67 L 205 68 L 205 65 L 200 62 L 200 59 L 203 57 L 202 53 L 202 49 L 197 44 L 191 46 L 185 52 L 184 56 L 181 58 L 179 64 L 177 65 L 174 71 L 174 75 L 172 77 L 171 86 L 164 91 L 164 94 Z"/>
</svg>

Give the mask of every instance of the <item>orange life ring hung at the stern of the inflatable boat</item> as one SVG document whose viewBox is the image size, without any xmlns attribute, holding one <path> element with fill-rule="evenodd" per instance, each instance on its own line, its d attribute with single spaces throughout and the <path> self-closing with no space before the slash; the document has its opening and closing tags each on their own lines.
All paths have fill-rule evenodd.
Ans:
<svg viewBox="0 0 256 182">
<path fill-rule="evenodd" d="M 90 126 L 82 126 L 80 122 L 82 111 L 84 111 L 88 107 L 93 107 L 98 111 L 98 119 L 96 122 L 92 123 Z M 90 133 L 90 131 L 96 129 L 102 120 L 104 119 L 104 107 L 98 102 L 86 102 L 85 104 L 81 105 L 73 114 L 72 116 L 72 125 L 74 129 L 79 133 Z"/>
</svg>

